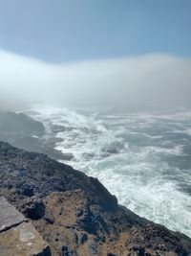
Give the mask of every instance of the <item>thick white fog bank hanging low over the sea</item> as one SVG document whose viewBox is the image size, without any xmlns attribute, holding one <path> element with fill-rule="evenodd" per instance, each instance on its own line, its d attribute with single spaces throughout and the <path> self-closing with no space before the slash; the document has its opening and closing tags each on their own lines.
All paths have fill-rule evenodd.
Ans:
<svg viewBox="0 0 191 256">
<path fill-rule="evenodd" d="M 50 64 L 0 51 L 0 107 L 32 102 L 130 110 L 190 106 L 191 59 L 151 54 Z"/>
</svg>

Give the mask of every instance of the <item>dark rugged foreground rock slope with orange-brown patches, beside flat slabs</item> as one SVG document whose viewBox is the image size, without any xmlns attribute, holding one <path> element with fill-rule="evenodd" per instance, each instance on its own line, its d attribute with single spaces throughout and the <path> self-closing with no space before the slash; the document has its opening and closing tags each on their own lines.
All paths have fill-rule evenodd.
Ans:
<svg viewBox="0 0 191 256">
<path fill-rule="evenodd" d="M 0 194 L 32 221 L 53 256 L 191 255 L 191 239 L 118 205 L 96 178 L 3 142 Z"/>
</svg>

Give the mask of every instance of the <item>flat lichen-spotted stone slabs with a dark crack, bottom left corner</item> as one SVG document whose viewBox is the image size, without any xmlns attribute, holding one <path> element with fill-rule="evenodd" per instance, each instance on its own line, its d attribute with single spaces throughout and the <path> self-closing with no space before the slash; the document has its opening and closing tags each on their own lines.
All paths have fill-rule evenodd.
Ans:
<svg viewBox="0 0 191 256">
<path fill-rule="evenodd" d="M 0 207 L 0 256 L 51 256 L 49 244 L 31 222 L 3 197 Z"/>
</svg>

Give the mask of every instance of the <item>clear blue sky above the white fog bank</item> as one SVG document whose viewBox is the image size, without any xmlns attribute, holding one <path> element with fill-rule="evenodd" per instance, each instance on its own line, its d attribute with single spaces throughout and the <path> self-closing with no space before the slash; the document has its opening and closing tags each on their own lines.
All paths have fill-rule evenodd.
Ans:
<svg viewBox="0 0 191 256">
<path fill-rule="evenodd" d="M 191 57 L 190 0 L 0 0 L 0 49 L 49 62 Z"/>
</svg>

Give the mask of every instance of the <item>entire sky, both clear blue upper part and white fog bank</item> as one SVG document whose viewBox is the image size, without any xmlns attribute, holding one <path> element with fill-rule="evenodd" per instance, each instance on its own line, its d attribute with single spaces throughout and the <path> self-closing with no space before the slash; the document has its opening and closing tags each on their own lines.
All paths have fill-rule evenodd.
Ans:
<svg viewBox="0 0 191 256">
<path fill-rule="evenodd" d="M 0 0 L 0 108 L 191 106 L 190 0 Z"/>
</svg>

